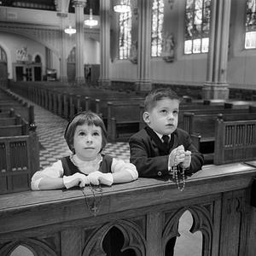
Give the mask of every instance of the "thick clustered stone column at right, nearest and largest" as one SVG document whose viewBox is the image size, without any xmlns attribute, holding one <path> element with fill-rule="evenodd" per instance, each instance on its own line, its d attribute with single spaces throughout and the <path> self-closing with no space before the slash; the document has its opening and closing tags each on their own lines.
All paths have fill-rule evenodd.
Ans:
<svg viewBox="0 0 256 256">
<path fill-rule="evenodd" d="M 228 99 L 227 62 L 230 36 L 231 0 L 212 0 L 211 34 L 207 58 L 204 99 Z"/>
</svg>

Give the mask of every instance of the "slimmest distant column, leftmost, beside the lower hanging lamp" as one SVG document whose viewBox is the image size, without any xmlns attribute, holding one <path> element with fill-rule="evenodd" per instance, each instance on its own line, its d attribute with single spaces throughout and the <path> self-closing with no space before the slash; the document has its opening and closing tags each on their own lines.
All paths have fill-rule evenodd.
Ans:
<svg viewBox="0 0 256 256">
<path fill-rule="evenodd" d="M 66 13 L 57 13 L 61 19 L 61 58 L 60 58 L 60 79 L 61 83 L 67 84 L 67 56 L 66 56 L 66 40 L 67 35 L 64 32 Z"/>
</svg>

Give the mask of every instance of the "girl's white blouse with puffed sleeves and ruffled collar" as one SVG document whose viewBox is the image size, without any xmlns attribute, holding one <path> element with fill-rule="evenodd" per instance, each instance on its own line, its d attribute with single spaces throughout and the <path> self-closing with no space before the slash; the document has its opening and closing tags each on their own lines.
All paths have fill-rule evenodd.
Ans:
<svg viewBox="0 0 256 256">
<path fill-rule="evenodd" d="M 79 168 L 80 172 L 88 175 L 90 172 L 99 171 L 100 164 L 102 162 L 102 155 L 98 154 L 96 160 L 83 161 L 73 154 L 70 156 L 70 160 L 75 166 Z M 138 177 L 136 166 L 131 163 L 125 163 L 124 160 L 113 158 L 111 165 L 111 172 L 125 171 L 131 174 L 131 181 L 136 180 Z M 63 166 L 61 160 L 57 160 L 52 166 L 46 167 L 43 171 L 35 172 L 32 176 L 31 187 L 32 190 L 39 189 L 39 183 L 43 177 L 63 177 Z"/>
</svg>

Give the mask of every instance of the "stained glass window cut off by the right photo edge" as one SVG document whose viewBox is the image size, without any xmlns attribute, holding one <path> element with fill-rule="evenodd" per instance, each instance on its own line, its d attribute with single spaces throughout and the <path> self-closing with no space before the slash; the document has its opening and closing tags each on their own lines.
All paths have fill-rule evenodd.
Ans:
<svg viewBox="0 0 256 256">
<path fill-rule="evenodd" d="M 256 48 L 256 0 L 247 0 L 245 49 Z"/>
</svg>

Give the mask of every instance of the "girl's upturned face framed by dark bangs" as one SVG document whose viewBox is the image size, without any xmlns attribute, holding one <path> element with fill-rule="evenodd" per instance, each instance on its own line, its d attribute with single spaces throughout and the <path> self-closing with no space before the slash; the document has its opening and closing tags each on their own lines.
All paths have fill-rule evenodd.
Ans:
<svg viewBox="0 0 256 256">
<path fill-rule="evenodd" d="M 95 160 L 102 148 L 102 128 L 96 125 L 78 125 L 74 132 L 73 148 L 80 160 Z"/>
</svg>

